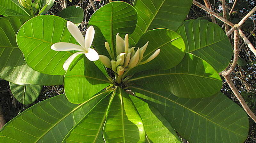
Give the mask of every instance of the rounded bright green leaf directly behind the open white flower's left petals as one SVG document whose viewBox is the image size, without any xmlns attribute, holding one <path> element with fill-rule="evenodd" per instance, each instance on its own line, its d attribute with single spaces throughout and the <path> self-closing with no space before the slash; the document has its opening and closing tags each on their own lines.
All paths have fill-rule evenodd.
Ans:
<svg viewBox="0 0 256 143">
<path fill-rule="evenodd" d="M 67 29 L 67 21 L 53 15 L 31 18 L 20 27 L 17 43 L 27 64 L 49 75 L 64 75 L 63 63 L 74 51 L 57 52 L 50 47 L 57 42 L 76 43 Z"/>
</svg>

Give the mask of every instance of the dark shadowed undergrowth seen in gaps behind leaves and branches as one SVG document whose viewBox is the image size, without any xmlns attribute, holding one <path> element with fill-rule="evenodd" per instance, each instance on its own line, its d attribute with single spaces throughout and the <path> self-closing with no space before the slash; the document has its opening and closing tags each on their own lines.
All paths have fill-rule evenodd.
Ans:
<svg viewBox="0 0 256 143">
<path fill-rule="evenodd" d="M 133 0 L 122 0 L 124 2 L 128 2 L 132 4 Z M 198 0 L 201 4 L 204 4 L 203 0 Z M 232 7 L 233 0 L 230 1 L 231 3 L 228 3 L 227 5 L 229 7 Z M 95 2 L 96 8 L 100 8 L 102 5 L 108 3 L 107 1 L 97 1 Z M 221 14 L 221 11 L 219 10 L 219 1 L 210 0 L 211 4 L 214 4 L 215 11 Z M 87 6 L 89 4 L 89 0 L 85 1 L 78 1 L 73 0 L 72 2 L 68 1 L 68 6 L 71 5 L 79 5 L 84 9 L 84 21 L 80 25 L 80 28 L 84 30 L 86 28 L 86 22 L 88 22 L 90 16 L 93 14 L 93 9 L 88 9 Z M 239 18 L 243 17 L 248 11 L 250 11 L 254 6 L 256 5 L 256 2 L 254 0 L 238 0 L 237 5 L 235 7 L 234 12 L 229 17 L 230 20 L 234 23 L 239 21 Z M 53 7 L 47 12 L 47 14 L 56 14 L 62 10 L 62 7 L 60 4 L 54 3 Z M 1 17 L 1 15 L 0 15 Z M 210 20 L 209 15 L 196 7 L 195 5 L 192 5 L 192 8 L 190 9 L 189 15 L 186 20 L 189 19 L 206 19 Z M 220 21 L 217 21 L 217 24 L 222 26 L 222 23 Z M 243 25 L 243 30 L 247 31 L 246 35 L 248 36 L 250 32 L 254 29 L 254 25 L 251 19 L 247 20 L 246 23 Z M 252 34 L 253 35 L 253 34 Z M 256 39 L 250 38 L 253 45 L 255 45 Z M 242 45 L 243 43 L 241 43 Z M 240 46 L 241 46 L 240 45 Z M 243 45 L 242 45 L 243 46 Z M 243 95 L 244 99 L 246 100 L 249 107 L 251 107 L 253 112 L 256 112 L 256 97 L 255 97 L 255 89 L 256 89 L 256 78 L 255 78 L 255 72 L 256 72 L 256 63 L 255 56 L 249 52 L 249 50 L 244 46 L 244 48 L 240 51 L 239 55 L 239 62 L 238 65 L 235 68 L 235 71 L 233 72 L 232 78 L 236 84 L 236 87 L 239 91 L 241 91 L 241 94 Z M 229 97 L 231 100 L 236 102 L 238 101 L 234 97 L 232 91 L 230 91 L 228 85 L 224 82 L 223 88 L 221 91 Z M 60 95 L 63 93 L 63 86 L 44 86 L 39 98 L 32 104 L 29 105 L 23 105 L 20 104 L 14 97 L 11 95 L 9 83 L 0 79 L 0 105 L 4 112 L 4 118 L 6 122 L 17 116 L 20 112 L 26 110 L 28 107 L 41 102 L 45 99 L 48 99 L 50 97 Z M 250 119 L 250 133 L 248 136 L 248 139 L 245 141 L 246 143 L 256 142 L 256 124 Z"/>
</svg>

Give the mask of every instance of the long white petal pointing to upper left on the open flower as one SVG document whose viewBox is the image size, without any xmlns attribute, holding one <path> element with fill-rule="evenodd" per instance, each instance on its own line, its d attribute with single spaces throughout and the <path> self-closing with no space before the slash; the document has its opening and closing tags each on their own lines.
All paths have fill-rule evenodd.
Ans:
<svg viewBox="0 0 256 143">
<path fill-rule="evenodd" d="M 68 21 L 67 22 L 67 28 L 68 28 L 68 31 L 70 32 L 70 34 L 76 39 L 76 41 L 82 47 L 84 47 L 84 36 L 80 32 L 80 30 L 76 27 L 76 25 L 73 22 Z"/>
</svg>

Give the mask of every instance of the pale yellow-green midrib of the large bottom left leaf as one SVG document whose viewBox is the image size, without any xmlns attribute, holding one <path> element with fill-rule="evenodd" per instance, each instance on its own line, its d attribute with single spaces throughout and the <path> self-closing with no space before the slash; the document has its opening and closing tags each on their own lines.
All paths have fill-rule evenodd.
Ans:
<svg viewBox="0 0 256 143">
<path fill-rule="evenodd" d="M 74 111 L 76 111 L 77 109 L 79 109 L 79 108 L 82 107 L 84 104 L 86 104 L 86 103 L 88 103 L 89 101 L 91 101 L 92 99 L 94 99 L 94 98 L 96 98 L 96 97 L 98 97 L 98 96 L 100 96 L 100 95 L 102 95 L 102 94 L 104 94 L 104 93 L 106 93 L 106 92 L 108 92 L 108 91 L 110 91 L 110 90 L 106 90 L 105 92 L 102 92 L 102 93 L 100 93 L 100 94 L 98 94 L 98 95 L 93 96 L 92 98 L 88 99 L 88 100 L 85 101 L 84 103 L 79 104 L 76 108 L 74 108 L 72 111 L 70 111 L 66 116 L 64 116 L 64 117 L 61 118 L 57 123 L 55 123 L 55 125 L 53 125 L 51 128 L 49 128 L 49 130 L 47 130 L 42 136 L 38 137 L 38 139 L 35 141 L 35 143 L 38 142 L 40 139 L 42 139 L 42 137 L 43 137 L 46 133 L 48 133 L 53 127 L 55 127 L 56 125 L 58 125 L 63 119 L 67 118 L 67 117 L 68 117 L 70 114 L 72 114 Z"/>
</svg>

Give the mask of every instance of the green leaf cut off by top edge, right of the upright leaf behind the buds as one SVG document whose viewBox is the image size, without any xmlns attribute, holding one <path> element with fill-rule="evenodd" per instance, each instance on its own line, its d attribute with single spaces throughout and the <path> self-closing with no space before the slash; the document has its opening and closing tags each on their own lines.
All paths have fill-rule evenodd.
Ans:
<svg viewBox="0 0 256 143">
<path fill-rule="evenodd" d="M 141 35 L 155 28 L 176 31 L 187 18 L 192 0 L 136 0 L 133 4 L 138 11 L 138 23 L 129 43 L 136 45 Z"/>
</svg>

